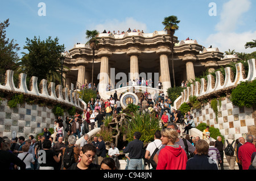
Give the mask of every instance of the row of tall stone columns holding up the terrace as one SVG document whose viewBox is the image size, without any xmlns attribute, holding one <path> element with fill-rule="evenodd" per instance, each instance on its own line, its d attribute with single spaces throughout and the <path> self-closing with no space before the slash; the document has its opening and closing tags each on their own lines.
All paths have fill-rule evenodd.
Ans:
<svg viewBox="0 0 256 181">
<path fill-rule="evenodd" d="M 131 79 L 139 78 L 139 53 L 141 53 L 138 49 L 130 49 L 127 52 L 127 55 L 130 56 L 130 75 Z M 163 90 L 166 91 L 168 88 L 171 87 L 171 78 L 170 78 L 170 69 L 169 69 L 169 62 L 168 62 L 168 55 L 171 53 L 171 50 L 167 48 L 160 48 L 156 54 L 159 55 L 159 78 L 162 82 Z M 100 75 L 97 77 L 100 81 L 99 90 L 106 91 L 106 87 L 108 83 L 110 83 L 110 62 L 109 57 L 112 53 L 108 50 L 102 50 L 98 52 L 98 57 L 101 58 L 101 67 L 100 67 Z M 186 66 L 186 75 L 187 80 L 191 81 L 191 79 L 195 79 L 195 71 L 193 67 L 193 60 L 185 60 Z M 77 82 L 79 85 L 83 85 L 85 82 L 89 83 L 91 76 L 89 75 L 89 71 L 85 69 L 85 65 L 78 66 L 78 76 Z M 71 80 L 70 78 L 66 77 L 65 84 L 70 85 Z M 80 85 L 80 86 L 81 86 Z"/>
</svg>

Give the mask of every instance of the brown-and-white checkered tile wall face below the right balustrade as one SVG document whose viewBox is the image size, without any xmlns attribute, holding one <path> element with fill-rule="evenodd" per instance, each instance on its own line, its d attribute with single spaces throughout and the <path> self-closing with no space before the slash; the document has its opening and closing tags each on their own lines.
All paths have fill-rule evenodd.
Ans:
<svg viewBox="0 0 256 181">
<path fill-rule="evenodd" d="M 221 101 L 221 107 L 218 107 L 218 119 L 208 103 L 199 110 L 192 110 L 196 125 L 206 123 L 209 126 L 220 129 L 223 136 L 234 134 L 235 138 L 241 137 L 256 129 L 256 109 L 255 107 L 237 107 L 233 106 L 229 98 Z M 249 133 L 251 134 L 251 133 Z"/>
</svg>

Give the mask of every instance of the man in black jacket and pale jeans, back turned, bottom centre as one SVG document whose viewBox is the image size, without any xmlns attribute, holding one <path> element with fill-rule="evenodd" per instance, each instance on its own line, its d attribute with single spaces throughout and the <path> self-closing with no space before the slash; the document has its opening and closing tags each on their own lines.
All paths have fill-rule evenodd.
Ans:
<svg viewBox="0 0 256 181">
<path fill-rule="evenodd" d="M 134 140 L 123 148 L 123 153 L 129 153 L 130 158 L 128 170 L 142 170 L 142 158 L 143 158 L 143 142 L 139 140 L 142 134 L 135 132 L 133 134 Z"/>
</svg>

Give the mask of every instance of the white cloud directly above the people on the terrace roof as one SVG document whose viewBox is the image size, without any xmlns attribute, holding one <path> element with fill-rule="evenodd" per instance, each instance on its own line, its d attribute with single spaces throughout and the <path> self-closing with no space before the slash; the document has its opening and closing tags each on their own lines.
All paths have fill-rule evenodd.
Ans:
<svg viewBox="0 0 256 181">
<path fill-rule="evenodd" d="M 137 20 L 133 18 L 125 18 L 123 20 L 118 20 L 118 19 L 108 19 L 105 20 L 104 23 L 102 24 L 97 24 L 96 26 L 93 26 L 92 29 L 97 30 L 99 32 L 103 32 L 104 30 L 108 31 L 115 31 L 117 32 L 118 30 L 120 32 L 122 31 L 127 31 L 128 28 L 131 28 L 131 30 L 143 30 L 144 32 L 147 31 L 147 26 L 144 23 L 138 22 Z"/>
</svg>

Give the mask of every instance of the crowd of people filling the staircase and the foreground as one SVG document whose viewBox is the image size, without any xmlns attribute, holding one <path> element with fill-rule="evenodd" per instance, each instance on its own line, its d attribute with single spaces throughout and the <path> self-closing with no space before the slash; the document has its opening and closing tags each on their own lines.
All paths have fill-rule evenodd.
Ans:
<svg viewBox="0 0 256 181">
<path fill-rule="evenodd" d="M 191 112 L 183 115 L 171 104 L 172 100 L 161 91 L 141 95 L 139 111 L 154 112 L 162 129 L 155 132 L 154 141 L 148 145 L 140 140 L 142 133 L 134 133 L 134 140 L 122 148 L 126 170 L 143 170 L 146 165 L 155 170 L 224 170 L 224 154 L 231 170 L 236 164 L 241 170 L 255 170 L 254 136 L 234 140 L 230 134 L 224 142 L 220 136 L 212 141 L 209 126 L 202 138 L 189 136 L 189 130 L 195 128 Z M 121 111 L 115 91 L 106 100 L 92 98 L 82 114 L 76 112 L 64 121 L 58 117 L 53 134 L 44 128 L 37 138 L 0 137 L 0 167 L 2 170 L 118 170 L 121 154 L 116 145 L 111 143 L 106 150 L 104 137 L 89 138 L 88 132 L 102 127 L 106 117 L 115 117 Z M 80 145 L 76 145 L 77 138 L 82 138 Z M 45 157 L 43 162 L 42 157 Z"/>
</svg>

